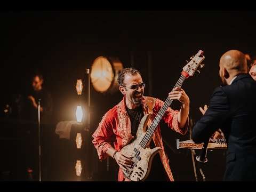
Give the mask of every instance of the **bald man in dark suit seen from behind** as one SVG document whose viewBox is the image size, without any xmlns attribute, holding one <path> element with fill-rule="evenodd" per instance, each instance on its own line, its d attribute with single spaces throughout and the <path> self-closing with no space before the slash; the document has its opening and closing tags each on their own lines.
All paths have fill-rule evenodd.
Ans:
<svg viewBox="0 0 256 192">
<path fill-rule="evenodd" d="M 222 85 L 193 127 L 192 139 L 205 142 L 220 128 L 228 145 L 223 181 L 256 181 L 256 82 L 247 74 L 245 54 L 238 50 L 224 53 L 219 67 Z"/>
</svg>

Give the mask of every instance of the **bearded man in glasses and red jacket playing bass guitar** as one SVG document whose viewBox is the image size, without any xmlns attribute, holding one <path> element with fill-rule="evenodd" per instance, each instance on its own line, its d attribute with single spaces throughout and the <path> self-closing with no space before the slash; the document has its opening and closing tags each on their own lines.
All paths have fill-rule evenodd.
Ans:
<svg viewBox="0 0 256 192">
<path fill-rule="evenodd" d="M 136 133 L 143 115 L 152 114 L 147 124 L 150 125 L 149 122 L 154 120 L 154 117 L 156 117 L 164 102 L 153 98 L 147 105 L 147 97 L 143 96 L 145 83 L 142 81 L 140 72 L 134 68 L 123 69 L 118 75 L 118 84 L 119 90 L 124 95 L 123 100 L 107 111 L 102 117 L 97 130 L 92 135 L 92 142 L 97 149 L 100 161 L 108 156 L 115 159 L 119 165 L 118 181 L 130 181 L 129 178 L 125 177 L 122 169 L 126 170 L 128 167 L 134 166 L 134 164 L 131 155 L 123 153 L 121 149 L 138 136 Z M 179 100 L 182 105 L 180 110 L 173 110 L 168 107 L 161 121 L 164 121 L 173 131 L 184 135 L 188 130 L 189 97 L 181 87 L 175 87 L 169 93 L 168 98 Z M 150 103 L 153 104 L 151 108 Z M 150 148 L 152 148 L 151 145 L 153 144 L 153 147 L 156 146 L 162 150 L 159 150 L 159 153 L 155 154 L 152 161 L 152 174 L 150 172 L 146 180 L 154 177 L 154 167 L 159 165 L 162 167 L 158 167 L 158 170 L 164 170 L 163 172 L 161 171 L 163 178 L 164 175 L 167 175 L 169 181 L 174 181 L 167 157 L 164 153 L 159 124 L 150 141 Z M 111 143 L 114 143 L 114 147 Z"/>
</svg>

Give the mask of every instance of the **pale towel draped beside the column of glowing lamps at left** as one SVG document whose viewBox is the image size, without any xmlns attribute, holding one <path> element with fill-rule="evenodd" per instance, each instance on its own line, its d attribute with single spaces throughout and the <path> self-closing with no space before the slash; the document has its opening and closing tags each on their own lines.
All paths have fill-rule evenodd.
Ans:
<svg viewBox="0 0 256 192">
<path fill-rule="evenodd" d="M 79 124 L 77 121 L 61 121 L 57 123 L 55 133 L 60 139 L 70 139 L 70 131 L 73 124 Z"/>
</svg>

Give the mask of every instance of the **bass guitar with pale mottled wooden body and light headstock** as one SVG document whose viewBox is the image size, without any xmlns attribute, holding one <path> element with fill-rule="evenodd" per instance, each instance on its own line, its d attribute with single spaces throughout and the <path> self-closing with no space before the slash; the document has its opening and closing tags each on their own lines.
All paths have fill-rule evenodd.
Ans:
<svg viewBox="0 0 256 192">
<path fill-rule="evenodd" d="M 204 52 L 202 50 L 199 50 L 195 56 L 190 57 L 191 60 L 187 63 L 185 67 L 183 67 L 181 76 L 173 89 L 175 87 L 181 87 L 186 78 L 193 76 L 195 71 L 198 71 L 197 68 L 199 65 L 201 66 L 201 68 L 204 66 L 203 64 L 201 64 L 201 62 L 205 58 L 203 53 Z M 122 169 L 125 177 L 129 178 L 130 180 L 143 181 L 148 177 L 153 157 L 160 150 L 162 150 L 161 147 L 155 147 L 153 149 L 150 149 L 149 143 L 158 123 L 161 121 L 163 115 L 165 114 L 167 108 L 171 105 L 172 101 L 173 99 L 169 99 L 169 97 L 167 97 L 164 105 L 159 110 L 147 130 L 147 123 L 150 119 L 151 114 L 146 114 L 145 116 L 143 116 L 140 121 L 138 131 L 136 133 L 136 139 L 121 149 L 121 152 L 127 153 L 131 156 L 133 162 L 132 167 L 126 166 L 126 170 Z"/>
</svg>

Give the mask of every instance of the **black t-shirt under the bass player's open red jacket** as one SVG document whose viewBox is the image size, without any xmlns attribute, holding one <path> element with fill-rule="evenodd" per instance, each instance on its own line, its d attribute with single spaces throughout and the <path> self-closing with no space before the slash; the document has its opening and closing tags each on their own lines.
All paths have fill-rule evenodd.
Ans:
<svg viewBox="0 0 256 192">
<path fill-rule="evenodd" d="M 140 121 L 144 116 L 142 106 L 139 106 L 135 109 L 128 109 L 126 107 L 126 111 L 131 119 L 131 133 L 136 138 L 136 133 L 137 133 Z M 156 147 L 153 139 L 151 139 L 149 146 L 151 149 Z M 170 181 L 163 167 L 163 164 L 161 162 L 159 153 L 157 153 L 153 157 L 151 169 L 145 181 Z"/>
</svg>

